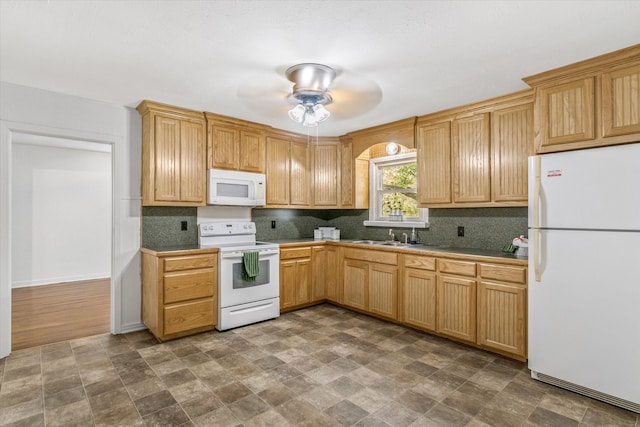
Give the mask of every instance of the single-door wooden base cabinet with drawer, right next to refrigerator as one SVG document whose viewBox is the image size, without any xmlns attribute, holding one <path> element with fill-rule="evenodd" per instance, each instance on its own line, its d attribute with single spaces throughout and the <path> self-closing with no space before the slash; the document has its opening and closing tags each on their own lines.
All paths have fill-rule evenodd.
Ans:
<svg viewBox="0 0 640 427">
<path fill-rule="evenodd" d="M 478 344 L 526 358 L 525 267 L 480 264 Z"/>
</svg>

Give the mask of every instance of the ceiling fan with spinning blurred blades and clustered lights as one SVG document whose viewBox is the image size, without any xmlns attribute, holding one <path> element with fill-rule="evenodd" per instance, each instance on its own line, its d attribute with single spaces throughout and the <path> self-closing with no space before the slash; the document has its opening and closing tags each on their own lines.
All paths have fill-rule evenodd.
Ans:
<svg viewBox="0 0 640 427">
<path fill-rule="evenodd" d="M 296 122 L 314 127 L 329 115 L 333 122 L 367 113 L 380 103 L 382 91 L 357 72 L 305 62 L 278 67 L 275 73 L 264 69 L 260 75 L 254 73 L 238 88 L 238 98 L 265 117 L 266 123 L 274 113 L 280 117 L 289 114 Z"/>
</svg>

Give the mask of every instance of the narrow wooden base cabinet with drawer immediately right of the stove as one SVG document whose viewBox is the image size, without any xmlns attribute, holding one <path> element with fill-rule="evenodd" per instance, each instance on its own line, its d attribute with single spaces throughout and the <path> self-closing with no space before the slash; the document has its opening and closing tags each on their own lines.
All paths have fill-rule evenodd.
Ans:
<svg viewBox="0 0 640 427">
<path fill-rule="evenodd" d="M 280 309 L 311 302 L 311 247 L 280 249 Z"/>
</svg>

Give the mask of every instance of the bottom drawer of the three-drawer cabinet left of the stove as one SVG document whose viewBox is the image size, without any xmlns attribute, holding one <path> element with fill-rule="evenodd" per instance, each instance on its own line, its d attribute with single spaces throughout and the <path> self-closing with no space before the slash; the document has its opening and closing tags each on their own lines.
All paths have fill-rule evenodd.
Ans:
<svg viewBox="0 0 640 427">
<path fill-rule="evenodd" d="M 164 308 L 164 335 L 213 326 L 213 298 Z"/>
</svg>

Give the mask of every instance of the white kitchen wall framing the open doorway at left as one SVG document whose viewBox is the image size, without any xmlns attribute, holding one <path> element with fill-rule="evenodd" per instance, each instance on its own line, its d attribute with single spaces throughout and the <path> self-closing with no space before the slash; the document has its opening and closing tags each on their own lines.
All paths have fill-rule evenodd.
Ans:
<svg viewBox="0 0 640 427">
<path fill-rule="evenodd" d="M 11 152 L 16 133 L 112 145 L 111 331 L 144 328 L 140 321 L 139 114 L 134 108 L 0 82 L 0 357 L 11 348 Z"/>
</svg>

